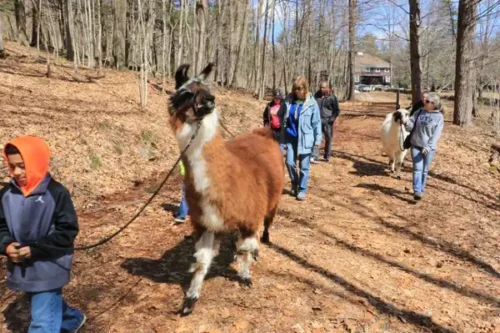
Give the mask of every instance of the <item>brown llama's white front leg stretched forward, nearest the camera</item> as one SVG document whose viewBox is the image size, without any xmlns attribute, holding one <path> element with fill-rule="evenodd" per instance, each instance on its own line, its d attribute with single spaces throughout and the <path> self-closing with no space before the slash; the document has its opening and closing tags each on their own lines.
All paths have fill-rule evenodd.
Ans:
<svg viewBox="0 0 500 333">
<path fill-rule="evenodd" d="M 196 242 L 196 252 L 194 254 L 196 263 L 192 265 L 190 270 L 194 272 L 194 276 L 182 306 L 183 315 L 188 315 L 193 311 L 194 305 L 200 297 L 203 280 L 208 273 L 212 259 L 216 255 L 216 250 L 218 250 L 218 241 L 214 242 L 214 236 L 213 232 L 205 231 Z"/>
</svg>

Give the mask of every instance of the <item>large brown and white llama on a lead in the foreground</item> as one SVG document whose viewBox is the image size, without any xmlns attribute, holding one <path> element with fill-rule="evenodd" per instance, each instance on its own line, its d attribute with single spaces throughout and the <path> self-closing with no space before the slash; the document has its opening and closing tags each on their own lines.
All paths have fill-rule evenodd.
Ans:
<svg viewBox="0 0 500 333">
<path fill-rule="evenodd" d="M 224 141 L 218 129 L 215 97 L 204 84 L 213 65 L 189 79 L 189 65 L 175 73 L 170 124 L 184 150 L 186 199 L 194 228 L 196 263 L 180 310 L 188 315 L 200 297 L 205 275 L 218 254 L 220 237 L 238 231 L 236 260 L 240 282 L 251 286 L 250 265 L 258 256 L 257 235 L 269 242 L 269 228 L 284 187 L 285 169 L 278 143 L 267 128 Z M 263 223 L 264 222 L 264 223 Z"/>
</svg>

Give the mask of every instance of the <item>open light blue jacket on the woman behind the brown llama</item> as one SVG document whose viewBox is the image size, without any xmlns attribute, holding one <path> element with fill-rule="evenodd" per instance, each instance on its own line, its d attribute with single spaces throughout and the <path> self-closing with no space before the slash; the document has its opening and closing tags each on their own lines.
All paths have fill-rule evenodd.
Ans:
<svg viewBox="0 0 500 333">
<path fill-rule="evenodd" d="M 281 130 L 281 142 L 287 143 L 286 128 L 290 107 L 293 102 L 293 96 L 289 95 L 283 104 L 280 112 L 280 118 L 283 119 Z M 318 103 L 313 96 L 309 95 L 304 101 L 304 106 L 300 111 L 299 124 L 298 124 L 298 141 L 297 141 L 297 154 L 305 155 L 311 154 L 314 146 L 319 146 L 322 140 L 321 132 L 321 116 L 319 112 Z"/>
</svg>

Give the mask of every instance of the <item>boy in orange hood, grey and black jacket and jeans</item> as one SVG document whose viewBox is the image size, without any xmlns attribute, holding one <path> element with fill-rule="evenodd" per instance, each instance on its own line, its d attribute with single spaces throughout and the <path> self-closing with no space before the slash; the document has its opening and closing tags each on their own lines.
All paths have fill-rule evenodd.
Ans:
<svg viewBox="0 0 500 333">
<path fill-rule="evenodd" d="M 3 155 L 12 177 L 0 191 L 0 254 L 7 286 L 31 301 L 29 333 L 77 332 L 85 315 L 69 307 L 62 287 L 70 280 L 78 219 L 69 191 L 50 173 L 43 139 L 19 137 Z"/>
</svg>

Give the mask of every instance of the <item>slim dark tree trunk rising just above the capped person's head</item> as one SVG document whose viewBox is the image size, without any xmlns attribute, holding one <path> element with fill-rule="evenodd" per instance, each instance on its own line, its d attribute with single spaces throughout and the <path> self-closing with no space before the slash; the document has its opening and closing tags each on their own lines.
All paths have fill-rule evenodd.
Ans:
<svg viewBox="0 0 500 333">
<path fill-rule="evenodd" d="M 410 1 L 410 63 L 412 104 L 422 95 L 422 69 L 420 65 L 420 0 Z"/>
</svg>

